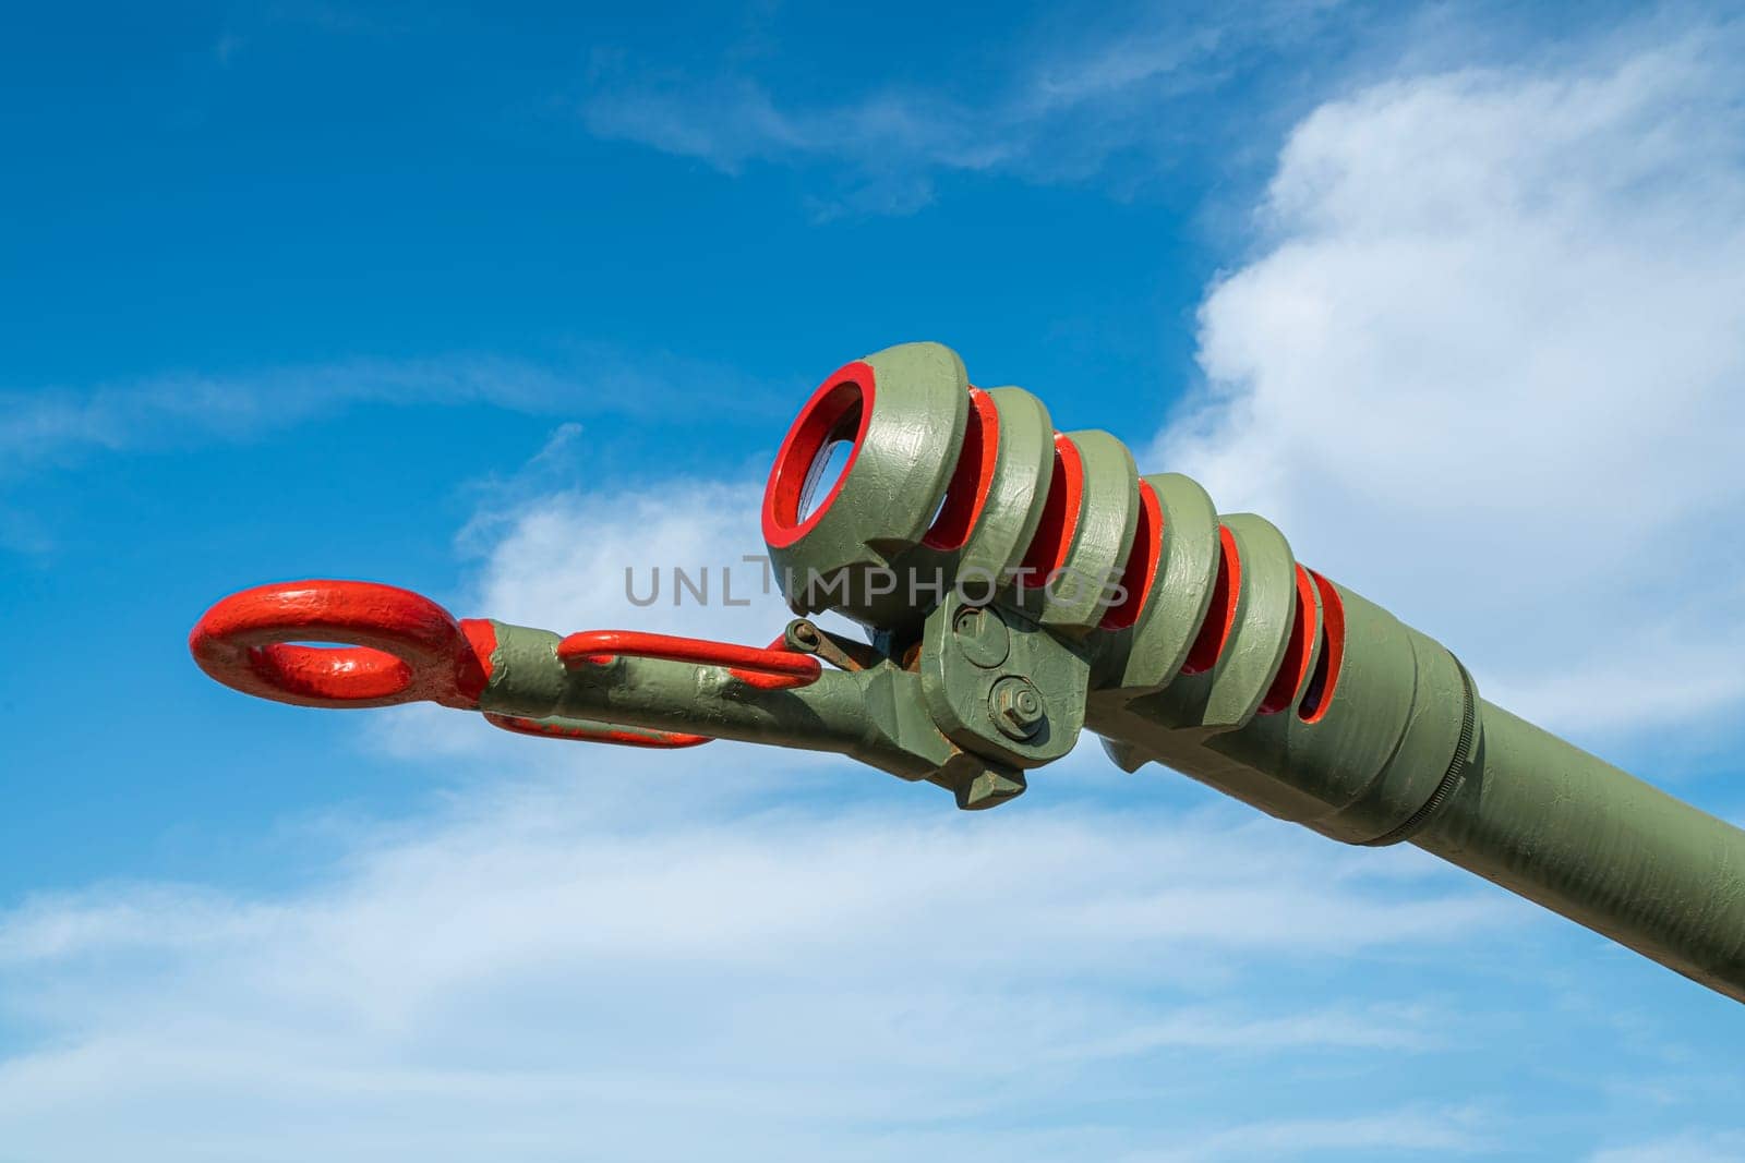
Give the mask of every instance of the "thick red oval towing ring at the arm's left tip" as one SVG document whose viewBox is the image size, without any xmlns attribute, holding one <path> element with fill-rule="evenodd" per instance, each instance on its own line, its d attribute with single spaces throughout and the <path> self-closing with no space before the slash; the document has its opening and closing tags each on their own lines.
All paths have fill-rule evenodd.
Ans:
<svg viewBox="0 0 1745 1163">
<path fill-rule="evenodd" d="M 475 710 L 490 624 L 457 622 L 429 598 L 351 581 L 257 586 L 194 626 L 188 650 L 218 682 L 297 706 L 394 706 L 429 699 Z M 290 645 L 340 642 L 342 647 Z"/>
</svg>

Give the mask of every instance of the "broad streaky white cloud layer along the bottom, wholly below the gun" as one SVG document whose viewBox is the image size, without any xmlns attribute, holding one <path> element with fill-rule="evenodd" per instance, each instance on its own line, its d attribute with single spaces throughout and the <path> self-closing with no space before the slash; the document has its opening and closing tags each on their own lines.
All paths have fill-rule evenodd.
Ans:
<svg viewBox="0 0 1745 1163">
<path fill-rule="evenodd" d="M 656 799 L 633 826 L 592 800 L 579 781 L 473 799 L 283 896 L 106 888 L 16 910 L 3 1017 L 40 1037 L 0 1065 L 0 1139 L 31 1160 L 914 1158 L 953 1139 L 1064 1158 L 965 1133 L 1071 1107 L 1075 1085 L 1190 1088 L 1208 1057 L 1426 1053 L 1452 1029 L 1434 1006 L 1223 985 L 1511 915 L 1440 882 L 1403 896 L 1312 837 L 1256 849 L 1267 825 L 944 804 L 672 823 Z"/>
</svg>

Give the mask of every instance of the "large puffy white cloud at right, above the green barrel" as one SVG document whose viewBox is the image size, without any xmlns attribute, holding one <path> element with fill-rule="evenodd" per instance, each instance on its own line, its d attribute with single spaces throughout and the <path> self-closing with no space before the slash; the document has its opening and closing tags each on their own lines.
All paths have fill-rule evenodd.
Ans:
<svg viewBox="0 0 1745 1163">
<path fill-rule="evenodd" d="M 1745 699 L 1745 85 L 1708 30 L 1317 110 L 1155 460 L 1577 731 Z"/>
</svg>

